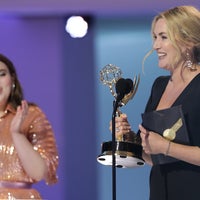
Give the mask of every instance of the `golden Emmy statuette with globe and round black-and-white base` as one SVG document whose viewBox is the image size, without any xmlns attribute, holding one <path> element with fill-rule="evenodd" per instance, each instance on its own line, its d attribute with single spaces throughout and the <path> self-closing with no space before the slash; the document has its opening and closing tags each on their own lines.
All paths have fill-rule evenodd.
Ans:
<svg viewBox="0 0 200 200">
<path fill-rule="evenodd" d="M 134 77 L 134 80 L 123 79 L 122 71 L 119 67 L 108 64 L 100 71 L 100 80 L 104 85 L 107 85 L 110 89 L 111 94 L 115 98 L 115 102 L 118 99 L 117 84 L 119 81 L 126 81 L 131 84 L 130 91 L 125 92 L 122 99 L 118 101 L 116 108 L 116 116 L 120 116 L 121 111 L 118 107 L 122 107 L 131 100 L 139 85 L 140 77 Z M 120 88 L 123 90 L 123 87 Z M 121 137 L 116 137 L 115 145 L 113 146 L 113 141 L 103 142 L 101 144 L 101 154 L 97 157 L 97 161 L 103 165 L 113 165 L 113 147 L 115 155 L 115 167 L 118 168 L 133 168 L 144 165 L 144 160 L 142 159 L 142 146 L 140 144 L 140 139 L 134 132 L 128 132 Z"/>
</svg>

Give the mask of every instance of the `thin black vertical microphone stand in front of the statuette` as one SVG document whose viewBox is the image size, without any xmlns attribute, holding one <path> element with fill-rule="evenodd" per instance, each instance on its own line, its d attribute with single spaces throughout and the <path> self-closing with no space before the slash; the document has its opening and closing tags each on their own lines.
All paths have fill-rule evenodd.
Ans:
<svg viewBox="0 0 200 200">
<path fill-rule="evenodd" d="M 113 113 L 112 113 L 112 194 L 113 200 L 116 200 L 116 141 L 115 141 L 115 117 L 118 108 L 119 99 L 113 101 Z"/>
</svg>

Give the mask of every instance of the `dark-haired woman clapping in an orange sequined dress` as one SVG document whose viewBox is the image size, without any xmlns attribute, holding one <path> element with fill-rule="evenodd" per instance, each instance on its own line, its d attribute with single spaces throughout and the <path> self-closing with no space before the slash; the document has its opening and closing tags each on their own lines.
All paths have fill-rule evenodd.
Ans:
<svg viewBox="0 0 200 200">
<path fill-rule="evenodd" d="M 13 63 L 0 54 L 0 199 L 41 199 L 32 184 L 57 182 L 58 152 L 43 111 L 23 99 Z"/>
</svg>

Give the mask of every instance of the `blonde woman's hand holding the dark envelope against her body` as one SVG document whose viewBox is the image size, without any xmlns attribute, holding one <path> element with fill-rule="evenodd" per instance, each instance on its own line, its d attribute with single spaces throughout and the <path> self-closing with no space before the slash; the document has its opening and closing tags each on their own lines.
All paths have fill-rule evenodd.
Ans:
<svg viewBox="0 0 200 200">
<path fill-rule="evenodd" d="M 153 131 L 146 130 L 139 125 L 142 147 L 146 154 L 165 154 L 169 141 Z"/>
</svg>

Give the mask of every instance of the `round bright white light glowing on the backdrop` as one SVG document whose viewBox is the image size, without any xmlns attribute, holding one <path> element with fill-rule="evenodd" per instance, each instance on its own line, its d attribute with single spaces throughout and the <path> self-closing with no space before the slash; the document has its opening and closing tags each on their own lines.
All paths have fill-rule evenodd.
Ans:
<svg viewBox="0 0 200 200">
<path fill-rule="evenodd" d="M 87 33 L 88 24 L 81 16 L 72 16 L 67 20 L 65 30 L 73 38 L 82 38 Z"/>
</svg>

